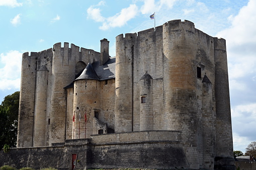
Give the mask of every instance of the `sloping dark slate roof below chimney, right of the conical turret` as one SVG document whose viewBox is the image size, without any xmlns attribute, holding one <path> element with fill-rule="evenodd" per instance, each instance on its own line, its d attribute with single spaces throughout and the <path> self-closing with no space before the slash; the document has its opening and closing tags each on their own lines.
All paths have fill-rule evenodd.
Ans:
<svg viewBox="0 0 256 170">
<path fill-rule="evenodd" d="M 93 68 L 99 76 L 100 80 L 107 80 L 115 78 L 116 73 L 116 58 L 112 57 L 104 64 L 100 66 L 100 61 L 94 62 Z"/>
</svg>

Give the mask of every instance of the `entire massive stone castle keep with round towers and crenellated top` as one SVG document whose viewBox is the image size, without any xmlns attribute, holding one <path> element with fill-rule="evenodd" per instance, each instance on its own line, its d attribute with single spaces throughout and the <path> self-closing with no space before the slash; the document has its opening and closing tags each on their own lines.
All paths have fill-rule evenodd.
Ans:
<svg viewBox="0 0 256 170">
<path fill-rule="evenodd" d="M 190 21 L 23 54 L 17 149 L 58 168 L 233 169 L 231 129 L 225 40 Z"/>
</svg>

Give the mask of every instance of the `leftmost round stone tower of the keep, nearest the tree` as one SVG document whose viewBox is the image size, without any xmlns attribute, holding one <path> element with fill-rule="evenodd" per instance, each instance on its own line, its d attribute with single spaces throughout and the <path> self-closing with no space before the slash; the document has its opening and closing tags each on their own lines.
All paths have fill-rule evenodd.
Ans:
<svg viewBox="0 0 256 170">
<path fill-rule="evenodd" d="M 33 146 L 35 87 L 38 53 L 22 55 L 17 147 Z"/>
</svg>

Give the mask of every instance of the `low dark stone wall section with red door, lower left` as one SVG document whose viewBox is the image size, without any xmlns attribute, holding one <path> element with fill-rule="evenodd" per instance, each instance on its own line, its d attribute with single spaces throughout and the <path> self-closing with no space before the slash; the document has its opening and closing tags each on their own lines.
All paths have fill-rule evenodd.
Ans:
<svg viewBox="0 0 256 170">
<path fill-rule="evenodd" d="M 87 143 L 86 139 L 72 142 L 66 140 L 65 144 L 60 146 L 11 148 L 7 153 L 1 150 L 0 166 L 7 164 L 17 169 L 54 167 L 59 170 L 71 170 L 72 154 L 76 154 L 74 169 L 84 169 L 87 167 L 87 155 L 90 152 Z"/>
</svg>

